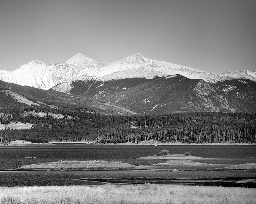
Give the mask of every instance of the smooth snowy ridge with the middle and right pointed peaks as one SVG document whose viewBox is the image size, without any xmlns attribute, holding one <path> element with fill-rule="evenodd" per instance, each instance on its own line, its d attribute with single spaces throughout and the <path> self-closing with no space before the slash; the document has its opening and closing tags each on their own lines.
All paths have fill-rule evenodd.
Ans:
<svg viewBox="0 0 256 204">
<path fill-rule="evenodd" d="M 159 61 L 139 53 L 132 54 L 122 60 L 111 63 L 97 62 L 80 53 L 71 59 L 66 61 L 66 63 L 84 67 L 90 76 L 102 77 L 106 80 L 110 80 L 111 78 L 124 79 L 131 77 L 152 79 L 155 76 L 180 74 L 190 79 L 203 79 L 206 82 L 213 83 L 241 77 L 241 75 L 214 74 L 201 71 L 187 66 Z M 243 77 L 247 78 L 246 75 L 243 75 Z M 250 79 L 256 81 L 256 76 L 254 78 L 250 76 Z"/>
</svg>

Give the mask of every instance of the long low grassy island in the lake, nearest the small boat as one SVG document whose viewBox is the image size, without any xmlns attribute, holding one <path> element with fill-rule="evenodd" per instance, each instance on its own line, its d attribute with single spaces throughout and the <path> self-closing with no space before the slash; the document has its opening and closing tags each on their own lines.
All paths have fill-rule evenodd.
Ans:
<svg viewBox="0 0 256 204">
<path fill-rule="evenodd" d="M 70 169 L 125 169 L 136 168 L 135 165 L 107 161 L 58 161 L 30 164 L 19 167 L 19 169 L 52 169 L 52 170 L 70 170 Z"/>
</svg>

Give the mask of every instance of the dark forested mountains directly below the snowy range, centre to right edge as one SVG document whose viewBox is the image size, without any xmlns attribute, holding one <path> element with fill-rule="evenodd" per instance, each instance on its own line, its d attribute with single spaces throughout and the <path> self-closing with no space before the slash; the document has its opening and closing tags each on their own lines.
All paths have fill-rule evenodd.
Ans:
<svg viewBox="0 0 256 204">
<path fill-rule="evenodd" d="M 252 105 L 252 101 L 256 88 L 251 88 L 255 82 L 247 81 L 248 85 L 241 83 L 239 87 L 239 94 L 244 96 L 242 99 L 237 97 L 238 94 L 230 94 L 221 88 L 221 85 L 229 87 L 229 81 L 210 84 L 178 74 L 153 79 L 137 77 L 109 81 L 99 81 L 96 78 L 76 80 L 70 83 L 70 93 L 101 99 L 147 115 L 173 112 L 255 112 L 256 106 Z M 242 91 L 245 86 L 247 88 Z M 250 96 L 246 97 L 246 93 L 250 93 Z"/>
</svg>

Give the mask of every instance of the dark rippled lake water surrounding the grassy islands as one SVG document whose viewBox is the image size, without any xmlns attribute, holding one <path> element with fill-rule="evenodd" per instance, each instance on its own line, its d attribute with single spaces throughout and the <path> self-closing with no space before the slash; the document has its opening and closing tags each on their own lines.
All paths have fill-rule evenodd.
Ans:
<svg viewBox="0 0 256 204">
<path fill-rule="evenodd" d="M 256 146 L 136 146 L 136 145 L 28 145 L 0 146 L 0 169 L 13 169 L 26 164 L 52 162 L 58 160 L 120 160 L 134 165 L 162 163 L 165 160 L 136 159 L 150 156 L 167 149 L 170 154 L 184 154 L 191 150 L 191 155 L 205 157 L 202 162 L 220 164 L 219 167 L 231 164 L 256 162 Z M 36 159 L 26 159 L 35 156 Z M 218 167 L 218 166 L 217 166 Z M 168 167 L 158 167 L 168 168 Z M 169 167 L 176 168 L 176 167 Z M 178 168 L 178 167 L 177 167 Z M 184 167 L 186 168 L 186 167 Z M 196 167 L 203 168 L 203 167 Z M 209 168 L 209 167 L 207 167 Z M 215 167 L 214 167 L 215 168 Z M 89 185 L 101 184 L 95 181 L 83 181 L 81 178 L 99 179 L 114 178 L 124 181 L 168 183 L 173 179 L 203 178 L 256 178 L 255 171 L 1 171 L 0 186 L 33 186 L 33 185 Z M 137 180 L 136 180 L 137 179 Z M 171 183 L 171 182 L 170 182 Z"/>
</svg>

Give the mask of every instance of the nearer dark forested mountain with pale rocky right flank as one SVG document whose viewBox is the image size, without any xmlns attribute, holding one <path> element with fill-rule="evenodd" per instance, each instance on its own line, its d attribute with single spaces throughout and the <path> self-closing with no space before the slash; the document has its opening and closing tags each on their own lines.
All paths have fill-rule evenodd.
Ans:
<svg viewBox="0 0 256 204">
<path fill-rule="evenodd" d="M 102 86 L 103 87 L 103 86 Z M 173 112 L 251 112 L 250 108 L 201 79 L 181 75 L 155 78 L 145 83 L 97 97 L 140 114 Z M 87 95 L 86 95 L 87 96 Z"/>
</svg>

